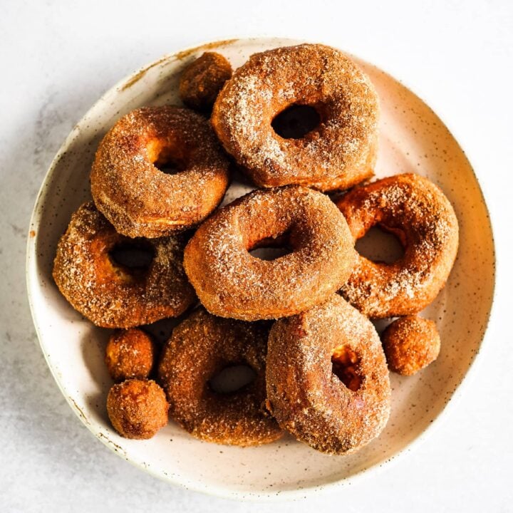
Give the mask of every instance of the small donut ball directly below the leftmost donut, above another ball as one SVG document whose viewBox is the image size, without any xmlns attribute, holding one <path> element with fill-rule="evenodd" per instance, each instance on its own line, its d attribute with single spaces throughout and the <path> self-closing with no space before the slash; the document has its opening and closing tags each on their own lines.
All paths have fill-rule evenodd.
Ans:
<svg viewBox="0 0 513 513">
<path fill-rule="evenodd" d="M 105 350 L 105 363 L 115 381 L 145 379 L 155 364 L 155 343 L 138 328 L 115 331 Z"/>
</svg>

